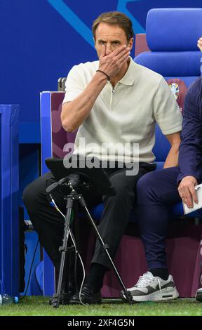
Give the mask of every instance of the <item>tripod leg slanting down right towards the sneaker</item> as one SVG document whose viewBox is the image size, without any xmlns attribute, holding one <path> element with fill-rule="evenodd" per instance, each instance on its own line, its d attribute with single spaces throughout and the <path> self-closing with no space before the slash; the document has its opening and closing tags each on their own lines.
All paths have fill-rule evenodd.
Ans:
<svg viewBox="0 0 202 330">
<path fill-rule="evenodd" d="M 92 225 L 92 227 L 93 227 L 93 230 L 94 230 L 94 232 L 95 232 L 95 235 L 96 235 L 97 239 L 99 240 L 99 242 L 100 242 L 100 244 L 101 244 L 101 246 L 102 246 L 102 249 L 103 249 L 103 250 L 105 251 L 105 253 L 107 254 L 107 257 L 109 258 L 110 263 L 112 264 L 112 268 L 113 268 L 113 270 L 114 270 L 114 272 L 115 272 L 115 274 L 116 274 L 117 279 L 119 280 L 119 283 L 121 284 L 121 287 L 122 287 L 122 289 L 123 289 L 124 295 L 126 296 L 126 299 L 127 299 L 128 303 L 133 304 L 133 303 L 134 303 L 134 301 L 133 301 L 133 296 L 131 295 L 130 291 L 127 291 L 126 286 L 125 286 L 125 284 L 123 283 L 123 280 L 121 279 L 121 276 L 119 275 L 119 272 L 118 272 L 118 270 L 116 269 L 116 266 L 114 265 L 114 262 L 113 262 L 113 260 L 112 260 L 112 258 L 111 258 L 111 256 L 110 256 L 110 254 L 109 254 L 109 251 L 107 250 L 109 246 L 107 246 L 107 244 L 105 244 L 105 242 L 103 242 L 103 239 L 102 239 L 102 237 L 100 236 L 100 232 L 97 230 L 97 227 L 96 227 L 96 225 L 95 225 L 95 223 L 94 223 L 94 221 L 93 221 L 93 218 L 90 216 L 90 213 L 89 213 L 89 211 L 88 211 L 88 209 L 87 209 L 85 199 L 84 199 L 83 197 L 81 197 L 81 199 L 79 199 L 79 202 L 81 203 L 81 205 L 82 205 L 82 206 L 84 207 L 84 209 L 86 210 L 86 213 L 87 213 L 88 218 L 89 218 L 89 220 L 90 220 L 90 223 L 91 223 L 91 225 Z"/>
</svg>

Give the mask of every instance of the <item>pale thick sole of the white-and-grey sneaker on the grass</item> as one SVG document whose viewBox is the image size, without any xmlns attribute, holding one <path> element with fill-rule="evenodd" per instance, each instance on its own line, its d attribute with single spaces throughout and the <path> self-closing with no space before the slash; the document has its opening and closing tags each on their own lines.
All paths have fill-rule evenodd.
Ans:
<svg viewBox="0 0 202 330">
<path fill-rule="evenodd" d="M 133 301 L 137 303 L 142 303 L 145 301 L 170 301 L 177 299 L 179 297 L 179 293 L 176 289 L 168 291 L 168 288 L 162 289 L 161 291 L 156 291 L 148 294 L 147 296 L 133 296 Z M 126 301 L 126 296 L 123 292 L 121 292 L 121 298 Z"/>
</svg>

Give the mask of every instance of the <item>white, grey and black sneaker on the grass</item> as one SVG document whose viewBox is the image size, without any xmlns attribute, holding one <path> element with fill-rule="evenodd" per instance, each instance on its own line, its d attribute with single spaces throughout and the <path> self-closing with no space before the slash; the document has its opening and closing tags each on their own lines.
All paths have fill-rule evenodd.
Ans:
<svg viewBox="0 0 202 330">
<path fill-rule="evenodd" d="M 173 276 L 169 275 L 165 281 L 161 277 L 154 277 L 152 272 L 145 272 L 137 281 L 133 288 L 127 289 L 133 296 L 133 301 L 167 301 L 176 299 L 179 296 Z M 121 298 L 126 300 L 124 292 L 121 291 Z"/>
</svg>

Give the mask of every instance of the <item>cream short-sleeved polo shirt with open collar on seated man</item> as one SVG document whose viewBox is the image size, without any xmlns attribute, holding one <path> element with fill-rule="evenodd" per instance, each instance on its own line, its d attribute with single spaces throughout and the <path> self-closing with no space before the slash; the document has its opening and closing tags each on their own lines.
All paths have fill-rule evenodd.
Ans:
<svg viewBox="0 0 202 330">
<path fill-rule="evenodd" d="M 99 61 L 95 61 L 72 67 L 63 103 L 74 100 L 86 88 L 98 66 Z M 102 160 L 152 163 L 156 122 L 163 134 L 180 132 L 180 108 L 165 79 L 130 58 L 124 77 L 114 89 L 107 82 L 79 126 L 74 153 Z"/>
</svg>

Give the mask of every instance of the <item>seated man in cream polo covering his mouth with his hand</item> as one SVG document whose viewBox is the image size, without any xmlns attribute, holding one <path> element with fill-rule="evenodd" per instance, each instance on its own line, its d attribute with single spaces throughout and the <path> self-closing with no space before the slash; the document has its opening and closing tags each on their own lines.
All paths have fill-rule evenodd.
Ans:
<svg viewBox="0 0 202 330">
<path fill-rule="evenodd" d="M 81 63 L 69 72 L 61 119 L 67 132 L 79 128 L 76 154 L 115 161 L 114 168 L 106 172 L 116 196 L 103 197 L 104 211 L 99 225 L 102 239 L 114 258 L 135 203 L 137 180 L 156 168 L 152 153 L 155 123 L 171 145 L 165 167 L 177 166 L 182 114 L 163 77 L 130 58 L 133 27 L 126 15 L 103 13 L 93 22 L 93 37 L 99 61 Z M 81 143 L 83 138 L 85 148 Z M 139 154 L 134 149 L 137 144 Z M 109 153 L 109 150 L 114 152 Z M 120 150 L 124 152 L 121 154 Z M 118 161 L 122 168 L 116 166 Z M 139 166 L 138 173 L 128 175 L 128 162 Z M 46 186 L 53 183 L 52 177 L 47 173 L 31 183 L 23 199 L 39 240 L 57 272 L 64 220 L 46 198 Z M 62 191 L 54 197 L 60 209 L 64 209 Z M 81 291 L 83 303 L 100 303 L 99 292 L 109 268 L 111 263 L 97 242 L 90 273 Z M 173 281 L 168 286 L 170 284 L 173 286 Z M 70 303 L 80 303 L 79 295 L 72 296 Z"/>
</svg>

